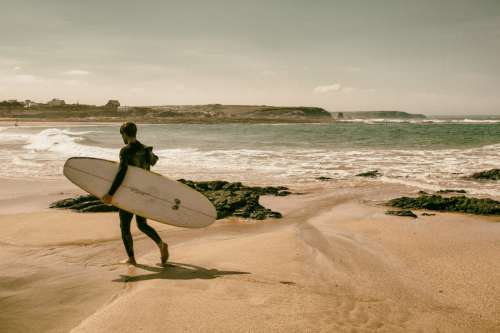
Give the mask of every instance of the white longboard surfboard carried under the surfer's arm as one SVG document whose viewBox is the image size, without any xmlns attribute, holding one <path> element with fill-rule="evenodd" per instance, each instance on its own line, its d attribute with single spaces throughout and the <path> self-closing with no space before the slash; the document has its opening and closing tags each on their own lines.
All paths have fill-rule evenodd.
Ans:
<svg viewBox="0 0 500 333">
<path fill-rule="evenodd" d="M 118 163 L 92 157 L 72 157 L 63 174 L 73 184 L 98 198 L 111 187 Z M 113 200 L 113 206 L 145 218 L 185 228 L 212 224 L 217 213 L 200 192 L 155 172 L 129 166 Z"/>
</svg>

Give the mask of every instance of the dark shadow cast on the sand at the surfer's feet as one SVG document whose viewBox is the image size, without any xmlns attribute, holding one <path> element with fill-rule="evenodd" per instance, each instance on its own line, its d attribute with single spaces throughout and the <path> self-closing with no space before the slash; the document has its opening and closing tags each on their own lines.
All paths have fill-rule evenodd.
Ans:
<svg viewBox="0 0 500 333">
<path fill-rule="evenodd" d="M 206 269 L 204 267 L 170 262 L 165 266 L 148 266 L 137 264 L 136 268 L 153 272 L 143 275 L 120 275 L 113 282 L 137 282 L 154 279 L 167 280 L 192 280 L 192 279 L 215 279 L 223 275 L 250 274 L 249 272 L 219 271 L 218 269 Z"/>
</svg>

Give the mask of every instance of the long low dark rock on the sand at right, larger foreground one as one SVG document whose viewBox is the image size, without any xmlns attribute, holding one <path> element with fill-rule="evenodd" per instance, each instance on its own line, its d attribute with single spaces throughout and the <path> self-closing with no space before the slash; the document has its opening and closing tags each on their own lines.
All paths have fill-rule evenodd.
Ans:
<svg viewBox="0 0 500 333">
<path fill-rule="evenodd" d="M 460 212 L 478 215 L 500 215 L 500 202 L 493 199 L 478 199 L 466 196 L 443 197 L 420 195 L 417 198 L 400 197 L 386 203 L 403 209 L 428 209 L 444 212 Z"/>
</svg>

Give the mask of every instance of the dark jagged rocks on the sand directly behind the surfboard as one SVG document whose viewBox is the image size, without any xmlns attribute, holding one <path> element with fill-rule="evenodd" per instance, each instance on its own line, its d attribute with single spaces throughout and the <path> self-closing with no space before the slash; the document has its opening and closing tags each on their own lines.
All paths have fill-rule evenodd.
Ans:
<svg viewBox="0 0 500 333">
<path fill-rule="evenodd" d="M 239 182 L 205 181 L 194 182 L 179 179 L 181 183 L 203 193 L 215 206 L 217 218 L 239 216 L 256 220 L 281 218 L 281 213 L 272 211 L 259 204 L 261 195 L 286 196 L 291 194 L 284 186 L 245 186 Z M 93 195 L 81 195 L 63 199 L 50 205 L 50 208 L 65 208 L 81 213 L 112 212 L 118 208 L 102 203 Z"/>
</svg>

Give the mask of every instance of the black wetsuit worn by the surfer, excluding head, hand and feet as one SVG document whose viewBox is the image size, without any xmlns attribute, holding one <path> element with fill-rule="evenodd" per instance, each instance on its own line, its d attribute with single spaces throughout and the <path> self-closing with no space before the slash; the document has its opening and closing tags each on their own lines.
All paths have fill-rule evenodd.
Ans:
<svg viewBox="0 0 500 333">
<path fill-rule="evenodd" d="M 139 141 L 135 141 L 129 143 L 120 150 L 120 166 L 118 168 L 118 173 L 115 176 L 113 184 L 109 189 L 109 195 L 114 195 L 118 190 L 121 183 L 123 182 L 123 179 L 125 178 L 129 165 L 149 170 L 151 165 L 154 165 L 156 163 L 156 161 L 158 160 L 158 156 L 153 154 L 152 149 L 153 147 L 147 147 Z M 132 240 L 132 234 L 130 233 L 130 223 L 132 222 L 134 214 L 123 209 L 120 209 L 119 214 L 123 244 L 125 245 L 125 250 L 127 251 L 128 256 L 133 257 L 134 243 Z M 137 227 L 139 228 L 139 230 L 148 235 L 149 238 L 151 238 L 155 243 L 158 244 L 159 242 L 161 242 L 161 238 L 158 233 L 148 225 L 144 217 L 136 215 L 135 220 L 137 221 Z"/>
</svg>

